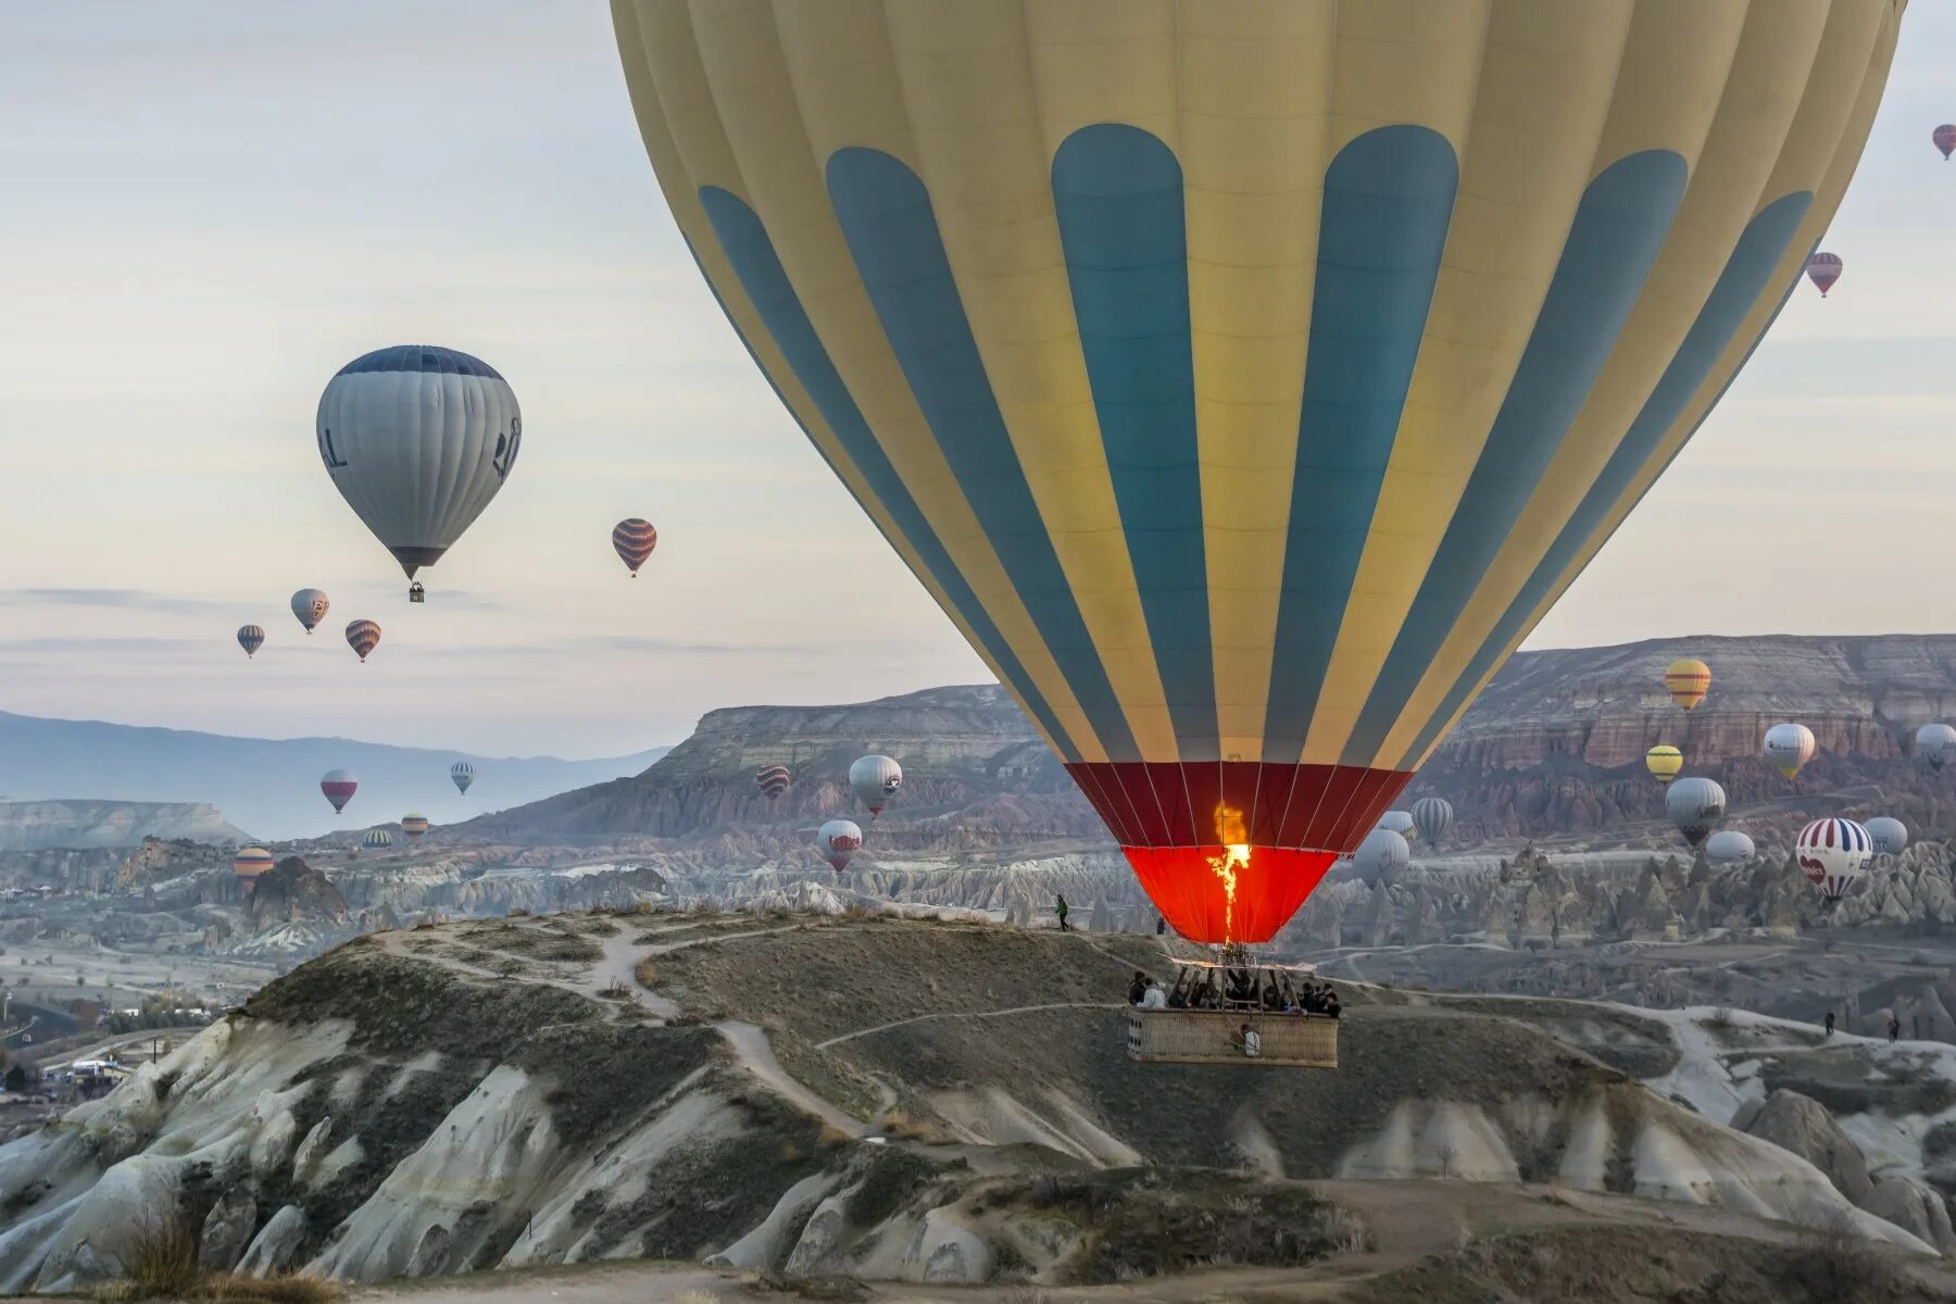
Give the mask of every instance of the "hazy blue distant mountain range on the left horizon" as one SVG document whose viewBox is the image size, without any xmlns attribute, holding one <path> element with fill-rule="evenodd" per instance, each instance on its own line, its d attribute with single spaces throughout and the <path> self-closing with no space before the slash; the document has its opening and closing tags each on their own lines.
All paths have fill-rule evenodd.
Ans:
<svg viewBox="0 0 1956 1304">
<path fill-rule="evenodd" d="M 143 729 L 98 719 L 45 719 L 0 712 L 0 794 L 14 802 L 192 802 L 217 807 L 223 821 L 254 839 L 291 839 L 362 827 L 421 811 L 454 823 L 552 794 L 638 774 L 663 757 L 653 747 L 630 757 L 477 757 L 426 747 L 352 739 L 246 739 L 182 729 Z M 467 761 L 467 796 L 448 766 Z M 360 792 L 334 819 L 319 776 L 352 770 Z"/>
</svg>

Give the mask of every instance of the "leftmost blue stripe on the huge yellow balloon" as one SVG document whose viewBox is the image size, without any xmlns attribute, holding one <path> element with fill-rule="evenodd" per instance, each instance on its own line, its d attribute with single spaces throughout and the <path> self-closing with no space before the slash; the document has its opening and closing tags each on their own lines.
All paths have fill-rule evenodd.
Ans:
<svg viewBox="0 0 1956 1304">
<path fill-rule="evenodd" d="M 794 293 L 792 282 L 788 282 L 786 268 L 780 266 L 780 256 L 775 254 L 775 242 L 767 237 L 767 229 L 751 207 L 747 207 L 737 196 L 720 190 L 718 186 L 700 188 L 700 205 L 706 209 L 706 221 L 712 223 L 714 235 L 720 239 L 720 250 L 726 254 L 728 264 L 734 268 L 734 276 L 739 278 L 741 289 L 747 291 L 747 299 L 753 303 L 755 313 L 761 317 L 761 325 L 775 340 L 775 348 L 786 358 L 788 368 L 794 377 L 814 399 L 816 409 L 822 418 L 829 424 L 835 440 L 855 461 L 857 469 L 863 473 L 863 483 L 868 493 L 882 504 L 890 514 L 892 524 L 902 532 L 915 549 L 917 559 L 923 569 L 931 573 L 951 606 L 956 608 L 958 616 L 978 637 L 980 645 L 992 655 L 994 665 L 1005 676 L 1007 686 L 1019 696 L 1021 702 L 1033 712 L 1033 717 L 1045 727 L 1046 737 L 1054 741 L 1060 757 L 1064 761 L 1080 761 L 1080 751 L 1068 737 L 1066 729 L 1060 727 L 1058 717 L 1046 700 L 1033 686 L 1033 678 L 1025 673 L 1025 667 L 1013 655 L 1005 637 L 992 624 L 992 618 L 980 606 L 978 596 L 964 583 L 956 565 L 951 563 L 951 555 L 945 551 L 943 542 L 939 542 L 937 532 L 931 530 L 931 522 L 923 518 L 917 502 L 904 489 L 904 481 L 898 477 L 896 467 L 884 456 L 882 446 L 876 436 L 870 434 L 868 422 L 863 420 L 863 413 L 857 409 L 855 399 L 849 395 L 849 387 L 843 377 L 835 371 L 835 364 L 829 360 L 827 348 L 823 348 L 822 338 L 816 334 L 814 323 L 808 321 L 808 313 L 802 309 L 800 295 Z M 690 242 L 689 242 L 690 250 Z M 694 254 L 694 264 L 698 256 Z M 704 276 L 704 268 L 700 270 Z M 706 278 L 706 285 L 714 289 L 714 301 L 720 303 L 720 311 L 726 313 L 726 301 L 720 297 L 720 289 L 714 287 L 712 278 Z M 747 348 L 747 356 L 753 358 L 753 346 L 747 344 L 747 336 L 741 334 L 739 323 L 734 321 L 732 313 L 726 313 L 728 323 L 734 332 L 739 334 L 741 344 Z M 755 368 L 761 375 L 767 375 L 767 368 L 755 358 Z M 769 385 L 775 379 L 769 375 Z M 780 399 L 780 407 L 794 416 L 794 407 L 775 385 L 775 397 Z M 796 420 L 800 420 L 796 416 Z M 806 426 L 802 434 L 808 434 Z M 816 452 L 822 446 L 810 436 L 810 444 Z M 827 461 L 827 454 L 823 454 Z M 835 463 L 829 463 L 835 471 Z M 837 479 L 841 479 L 837 475 Z M 849 481 L 843 481 L 847 485 Z M 874 518 L 870 518 L 874 520 Z M 890 540 L 896 543 L 896 540 Z"/>
</svg>

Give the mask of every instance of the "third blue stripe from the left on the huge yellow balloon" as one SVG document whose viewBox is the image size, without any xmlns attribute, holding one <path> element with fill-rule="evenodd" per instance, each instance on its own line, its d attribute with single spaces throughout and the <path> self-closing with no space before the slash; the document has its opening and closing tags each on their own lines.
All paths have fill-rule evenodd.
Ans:
<svg viewBox="0 0 1956 1304">
<path fill-rule="evenodd" d="M 1221 761 L 1181 164 L 1119 123 L 1052 158 L 1093 413 L 1181 761 Z"/>
</svg>

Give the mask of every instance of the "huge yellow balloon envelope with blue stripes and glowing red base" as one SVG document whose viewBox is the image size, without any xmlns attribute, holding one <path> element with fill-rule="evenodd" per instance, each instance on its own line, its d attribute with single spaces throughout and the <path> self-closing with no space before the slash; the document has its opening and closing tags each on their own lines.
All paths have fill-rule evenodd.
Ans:
<svg viewBox="0 0 1956 1304">
<path fill-rule="evenodd" d="M 1798 282 L 1899 6 L 612 0 L 796 422 L 1174 929 L 1267 940 Z"/>
</svg>

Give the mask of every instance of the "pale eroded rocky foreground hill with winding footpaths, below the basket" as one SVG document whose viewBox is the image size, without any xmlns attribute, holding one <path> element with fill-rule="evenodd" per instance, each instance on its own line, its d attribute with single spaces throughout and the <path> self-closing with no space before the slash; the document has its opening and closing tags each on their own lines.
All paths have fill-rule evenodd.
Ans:
<svg viewBox="0 0 1956 1304">
<path fill-rule="evenodd" d="M 1095 1282 L 1217 1261 L 1309 1273 L 1352 1253 L 1334 1279 L 1387 1281 L 1408 1259 L 1363 1251 L 1406 1208 L 1434 1220 L 1434 1196 L 1404 1183 L 1440 1179 L 1555 1183 L 1551 1204 L 1578 1210 L 1567 1226 L 1590 1238 L 1661 1226 L 1653 1200 L 1690 1206 L 1700 1236 L 1782 1220 L 1747 1224 L 1755 1245 L 1784 1241 L 1786 1222 L 1827 1226 L 1845 1238 L 1835 1257 L 1888 1247 L 1866 1269 L 1880 1294 L 1862 1298 L 1933 1298 L 1931 1261 L 1907 1251 L 1942 1247 L 1940 1195 L 1888 1153 L 1854 1167 L 1854 1142 L 1798 1091 L 1829 1067 L 1807 1058 L 1811 1028 L 1725 1034 L 1712 1011 L 1346 985 L 1336 1071 L 1138 1065 L 1117 1021 L 1134 968 L 1166 974 L 1170 956 L 1152 938 L 865 913 L 569 915 L 360 938 L 0 1148 L 0 1288 L 86 1288 L 117 1271 L 143 1218 L 182 1226 L 215 1269 L 356 1281 L 647 1255 Z M 1915 1046 L 1854 1054 L 1868 1081 L 1925 1071 Z M 1731 1091 L 1690 1085 L 1712 1077 Z M 1455 1253 L 1465 1232 L 1445 1228 L 1467 1222 L 1447 1198 L 1428 1243 Z M 1502 1206 L 1510 1232 L 1528 1202 Z M 1668 1238 L 1655 1238 L 1661 1261 L 1680 1253 Z M 1745 1288 L 1719 1298 L 1848 1298 L 1800 1273 L 1770 1290 L 1788 1277 L 1774 1255 L 1727 1259 Z"/>
</svg>

